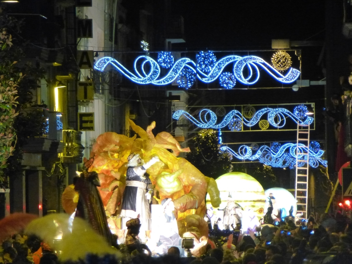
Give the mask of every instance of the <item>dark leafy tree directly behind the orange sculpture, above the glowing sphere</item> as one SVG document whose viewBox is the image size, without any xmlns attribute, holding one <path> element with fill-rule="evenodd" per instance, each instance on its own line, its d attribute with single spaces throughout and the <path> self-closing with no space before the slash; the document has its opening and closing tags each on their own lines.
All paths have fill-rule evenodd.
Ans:
<svg viewBox="0 0 352 264">
<path fill-rule="evenodd" d="M 191 152 L 187 160 L 192 163 L 202 174 L 217 178 L 222 174 L 232 171 L 230 156 L 219 152 L 218 137 L 212 129 L 202 129 L 189 141 Z"/>
</svg>

